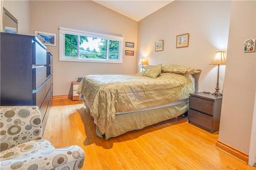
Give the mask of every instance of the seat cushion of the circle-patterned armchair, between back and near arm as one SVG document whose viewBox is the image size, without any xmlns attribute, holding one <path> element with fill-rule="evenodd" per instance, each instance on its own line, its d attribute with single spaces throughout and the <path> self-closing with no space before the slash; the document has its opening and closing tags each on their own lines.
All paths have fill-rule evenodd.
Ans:
<svg viewBox="0 0 256 170">
<path fill-rule="evenodd" d="M 45 139 L 31 140 L 16 147 L 10 148 L 0 153 L 1 162 L 3 163 L 8 159 L 23 159 L 34 155 L 35 153 L 40 153 L 43 151 L 48 151 L 55 149 L 51 142 Z"/>
</svg>

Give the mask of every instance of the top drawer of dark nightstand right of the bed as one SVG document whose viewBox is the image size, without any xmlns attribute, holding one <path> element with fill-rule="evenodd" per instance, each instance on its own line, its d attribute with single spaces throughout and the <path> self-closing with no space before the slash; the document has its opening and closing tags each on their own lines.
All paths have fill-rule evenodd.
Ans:
<svg viewBox="0 0 256 170">
<path fill-rule="evenodd" d="M 214 102 L 190 96 L 189 108 L 212 115 L 214 111 Z"/>
</svg>

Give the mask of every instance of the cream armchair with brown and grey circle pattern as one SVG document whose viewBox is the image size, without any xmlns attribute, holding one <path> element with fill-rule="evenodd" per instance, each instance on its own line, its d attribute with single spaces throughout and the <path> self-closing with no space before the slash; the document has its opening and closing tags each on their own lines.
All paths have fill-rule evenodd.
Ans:
<svg viewBox="0 0 256 170">
<path fill-rule="evenodd" d="M 0 107 L 0 169 L 81 169 L 83 150 L 73 145 L 55 149 L 42 138 L 36 106 Z"/>
</svg>

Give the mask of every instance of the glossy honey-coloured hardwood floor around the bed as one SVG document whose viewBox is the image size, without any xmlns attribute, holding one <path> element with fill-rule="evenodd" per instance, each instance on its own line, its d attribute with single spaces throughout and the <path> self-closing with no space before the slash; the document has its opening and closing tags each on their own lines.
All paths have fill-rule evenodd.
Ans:
<svg viewBox="0 0 256 170">
<path fill-rule="evenodd" d="M 256 169 L 215 147 L 218 134 L 167 120 L 105 140 L 80 102 L 54 100 L 44 138 L 55 148 L 79 145 L 83 169 Z"/>
</svg>

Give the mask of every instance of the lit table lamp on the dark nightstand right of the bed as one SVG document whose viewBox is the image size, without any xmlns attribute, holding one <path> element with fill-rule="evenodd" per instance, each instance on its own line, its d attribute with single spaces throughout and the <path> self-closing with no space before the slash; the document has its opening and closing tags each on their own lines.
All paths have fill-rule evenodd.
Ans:
<svg viewBox="0 0 256 170">
<path fill-rule="evenodd" d="M 219 75 L 220 75 L 220 65 L 226 64 L 226 52 L 215 52 L 214 59 L 211 61 L 210 65 L 218 65 L 218 76 L 217 76 L 217 86 L 215 92 L 212 95 L 222 95 L 219 88 Z"/>
</svg>

